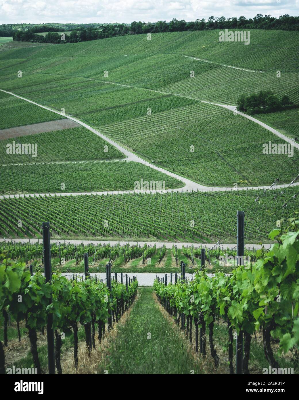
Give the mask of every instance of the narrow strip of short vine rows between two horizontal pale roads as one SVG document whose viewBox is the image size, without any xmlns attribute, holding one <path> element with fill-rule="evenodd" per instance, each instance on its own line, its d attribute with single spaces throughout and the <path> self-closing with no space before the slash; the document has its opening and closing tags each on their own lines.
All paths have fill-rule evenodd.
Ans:
<svg viewBox="0 0 299 400">
<path fill-rule="evenodd" d="M 77 273 L 84 272 L 84 254 L 88 254 L 90 272 L 105 272 L 105 265 L 110 260 L 114 272 L 179 272 L 180 262 L 186 265 L 186 271 L 194 272 L 201 262 L 203 247 L 182 246 L 178 249 L 166 249 L 165 244 L 156 248 L 155 244 L 74 244 L 53 242 L 51 244 L 51 266 L 55 272 Z M 0 254 L 13 261 L 25 262 L 32 272 L 44 268 L 43 246 L 41 243 L 0 242 Z M 225 270 L 236 265 L 236 250 L 221 249 L 219 246 L 207 248 L 207 270 Z M 227 264 L 221 263 L 227 257 Z M 245 259 L 250 262 L 257 260 L 256 250 L 245 250 Z M 231 261 L 232 260 L 232 261 Z"/>
</svg>

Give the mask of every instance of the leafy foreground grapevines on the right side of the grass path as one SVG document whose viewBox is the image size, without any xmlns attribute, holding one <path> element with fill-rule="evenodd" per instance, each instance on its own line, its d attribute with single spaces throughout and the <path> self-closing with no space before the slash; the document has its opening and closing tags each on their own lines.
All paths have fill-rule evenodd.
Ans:
<svg viewBox="0 0 299 400">
<path fill-rule="evenodd" d="M 191 281 L 184 275 L 175 284 L 155 280 L 154 290 L 160 303 L 177 324 L 183 321 L 181 328 L 190 345 L 194 344 L 195 352 L 206 356 L 209 337 L 215 368 L 219 366 L 219 354 L 214 348 L 213 332 L 216 323 L 220 323 L 227 326 L 225 347 L 230 374 L 234 373 L 235 334 L 238 340 L 244 340 L 242 368 L 243 374 L 249 374 L 251 343 L 257 332 L 262 334 L 265 358 L 272 368 L 285 367 L 279 365 L 273 354 L 275 341 L 278 356 L 291 352 L 291 365 L 298 370 L 298 235 L 298 221 L 295 220 L 288 232 L 273 230 L 269 236 L 279 236 L 279 243 L 268 253 L 259 250 L 259 259 L 251 266 L 240 265 L 229 274 L 218 272 L 207 276 L 203 268 L 197 270 Z M 286 360 L 281 362 L 285 364 Z"/>
</svg>

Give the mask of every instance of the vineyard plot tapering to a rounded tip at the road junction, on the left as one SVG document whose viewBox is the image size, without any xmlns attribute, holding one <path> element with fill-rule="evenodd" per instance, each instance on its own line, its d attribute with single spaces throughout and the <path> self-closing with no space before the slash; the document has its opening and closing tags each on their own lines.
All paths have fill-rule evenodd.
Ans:
<svg viewBox="0 0 299 400">
<path fill-rule="evenodd" d="M 2 166 L 0 192 L 133 190 L 134 182 L 140 182 L 141 179 L 147 182 L 161 181 L 161 185 L 164 182 L 165 189 L 184 186 L 183 182 L 137 162 L 72 162 Z"/>
</svg>

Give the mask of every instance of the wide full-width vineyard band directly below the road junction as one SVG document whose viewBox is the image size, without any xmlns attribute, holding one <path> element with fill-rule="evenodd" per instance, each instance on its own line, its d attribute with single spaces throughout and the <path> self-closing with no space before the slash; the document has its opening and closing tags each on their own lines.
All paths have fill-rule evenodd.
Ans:
<svg viewBox="0 0 299 400">
<path fill-rule="evenodd" d="M 245 241 L 256 242 L 267 240 L 277 216 L 295 216 L 296 193 L 290 187 L 283 194 L 250 190 L 4 199 L 0 234 L 40 238 L 40 221 L 51 221 L 54 238 L 235 242 L 235 215 L 241 209 L 247 218 Z"/>
</svg>

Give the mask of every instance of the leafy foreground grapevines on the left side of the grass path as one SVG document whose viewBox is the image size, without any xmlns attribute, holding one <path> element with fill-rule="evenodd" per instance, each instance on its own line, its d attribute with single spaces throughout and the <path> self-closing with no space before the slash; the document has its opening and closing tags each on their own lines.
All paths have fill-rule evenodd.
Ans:
<svg viewBox="0 0 299 400">
<path fill-rule="evenodd" d="M 8 313 L 10 318 L 16 321 L 19 342 L 21 341 L 20 325 L 25 323 L 33 365 L 38 374 L 41 374 L 43 370 L 39 358 L 37 334 L 38 332 L 44 334 L 44 329 L 48 326 L 47 321 L 49 317 L 51 318 L 50 327 L 55 331 L 56 338 L 54 372 L 56 364 L 57 373 L 62 374 L 60 363 L 62 334 L 63 339 L 65 335 L 73 336 L 74 368 L 76 369 L 79 363 L 78 331 L 84 329 L 86 346 L 90 354 L 96 347 L 96 328 L 98 342 L 101 342 L 107 321 L 109 331 L 128 310 L 136 297 L 138 288 L 138 281 L 134 279 L 128 284 L 127 276 L 126 285 L 117 280 L 111 280 L 111 266 L 110 280 L 107 278 L 106 283 L 98 281 L 97 278 L 89 278 L 88 274 L 85 281 L 68 280 L 59 274 L 53 274 L 49 281 L 41 272 L 32 275 L 24 263 L 15 263 L 9 258 L 1 261 L 0 271 L 2 288 L 0 304 L 1 314 L 4 316 L 4 342 L 0 341 L 1 374 L 4 374 L 5 370 L 4 348 L 8 346 Z"/>
</svg>

